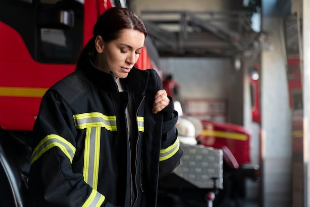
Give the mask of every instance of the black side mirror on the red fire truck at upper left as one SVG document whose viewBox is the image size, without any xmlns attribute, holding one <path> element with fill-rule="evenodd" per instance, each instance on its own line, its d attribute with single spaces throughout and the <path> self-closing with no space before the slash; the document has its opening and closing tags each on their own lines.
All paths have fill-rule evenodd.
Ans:
<svg viewBox="0 0 310 207">
<path fill-rule="evenodd" d="M 53 29 L 73 28 L 74 12 L 71 9 L 42 7 L 37 14 L 37 26 Z"/>
</svg>

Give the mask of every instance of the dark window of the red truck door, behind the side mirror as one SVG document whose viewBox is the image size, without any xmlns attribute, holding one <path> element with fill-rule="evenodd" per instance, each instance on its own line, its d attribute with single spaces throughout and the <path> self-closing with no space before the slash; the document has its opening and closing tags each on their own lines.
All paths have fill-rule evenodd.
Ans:
<svg viewBox="0 0 310 207">
<path fill-rule="evenodd" d="M 83 4 L 75 0 L 41 0 L 41 9 L 43 17 L 54 15 L 54 19 L 47 17 L 46 24 L 40 22 L 43 26 L 39 25 L 37 33 L 38 61 L 75 63 L 83 41 Z M 41 18 L 40 15 L 38 18 Z M 68 21 L 72 21 L 72 26 Z"/>
</svg>

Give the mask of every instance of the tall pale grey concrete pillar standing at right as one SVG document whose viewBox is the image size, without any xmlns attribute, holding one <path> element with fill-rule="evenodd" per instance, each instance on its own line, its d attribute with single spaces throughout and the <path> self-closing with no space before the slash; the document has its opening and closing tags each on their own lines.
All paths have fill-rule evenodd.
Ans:
<svg viewBox="0 0 310 207">
<path fill-rule="evenodd" d="M 291 111 L 283 19 L 263 17 L 262 30 L 272 35 L 273 51 L 262 52 L 261 109 L 263 130 L 263 207 L 291 207 Z"/>
</svg>

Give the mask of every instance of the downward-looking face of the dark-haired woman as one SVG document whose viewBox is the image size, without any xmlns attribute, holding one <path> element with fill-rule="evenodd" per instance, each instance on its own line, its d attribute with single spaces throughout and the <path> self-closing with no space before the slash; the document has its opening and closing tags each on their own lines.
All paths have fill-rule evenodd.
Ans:
<svg viewBox="0 0 310 207">
<path fill-rule="evenodd" d="M 98 52 L 95 65 L 103 71 L 113 72 L 118 78 L 126 78 L 139 58 L 144 40 L 142 32 L 132 29 L 122 30 L 121 36 L 110 42 L 104 42 L 98 36 L 95 41 Z"/>
</svg>

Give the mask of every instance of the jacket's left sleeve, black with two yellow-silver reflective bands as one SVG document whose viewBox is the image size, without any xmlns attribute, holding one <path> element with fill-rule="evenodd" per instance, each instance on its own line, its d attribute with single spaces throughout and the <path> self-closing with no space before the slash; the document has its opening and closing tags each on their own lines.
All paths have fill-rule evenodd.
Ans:
<svg viewBox="0 0 310 207">
<path fill-rule="evenodd" d="M 58 94 L 48 91 L 43 97 L 34 125 L 29 192 L 40 207 L 114 207 L 72 171 L 77 131 L 70 111 Z"/>
</svg>

